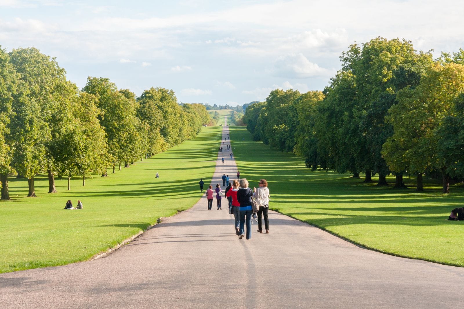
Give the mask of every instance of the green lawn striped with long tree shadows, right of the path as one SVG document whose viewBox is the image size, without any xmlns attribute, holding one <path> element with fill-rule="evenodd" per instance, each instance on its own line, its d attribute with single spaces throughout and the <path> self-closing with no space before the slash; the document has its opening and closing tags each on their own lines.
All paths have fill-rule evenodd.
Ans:
<svg viewBox="0 0 464 309">
<path fill-rule="evenodd" d="M 464 221 L 446 220 L 451 209 L 463 206 L 462 184 L 442 194 L 440 180 L 424 178 L 425 191 L 418 193 L 415 178 L 405 179 L 411 189 L 394 189 L 348 174 L 311 172 L 302 158 L 253 142 L 244 127 L 230 131 L 240 176 L 250 187 L 258 187 L 260 178 L 269 182 L 271 209 L 367 248 L 464 266 Z M 394 184 L 394 177 L 387 181 Z"/>
</svg>

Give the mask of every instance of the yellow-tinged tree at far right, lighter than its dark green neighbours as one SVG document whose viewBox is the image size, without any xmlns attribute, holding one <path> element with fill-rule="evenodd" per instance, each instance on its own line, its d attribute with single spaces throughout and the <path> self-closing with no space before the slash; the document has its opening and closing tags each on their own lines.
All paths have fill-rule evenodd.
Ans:
<svg viewBox="0 0 464 309">
<path fill-rule="evenodd" d="M 418 174 L 427 169 L 440 170 L 443 193 L 449 193 L 449 174 L 445 145 L 438 143 L 447 131 L 440 126 L 463 91 L 464 66 L 437 62 L 425 71 L 417 87 L 406 87 L 398 93 L 398 104 L 390 108 L 387 118 L 393 125 L 393 135 L 383 149 L 384 157 L 389 163 L 404 160 L 403 165 Z M 393 151 L 398 144 L 401 147 Z"/>
</svg>

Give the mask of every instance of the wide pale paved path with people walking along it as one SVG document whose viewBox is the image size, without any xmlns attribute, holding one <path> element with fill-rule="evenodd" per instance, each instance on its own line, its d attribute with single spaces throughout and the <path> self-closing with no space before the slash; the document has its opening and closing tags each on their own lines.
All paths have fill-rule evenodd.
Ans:
<svg viewBox="0 0 464 309">
<path fill-rule="evenodd" d="M 228 155 L 214 185 L 236 174 Z M 254 224 L 238 240 L 226 205 L 216 208 L 203 197 L 105 258 L 2 274 L 1 308 L 462 306 L 464 268 L 364 250 L 276 212 L 270 234 Z"/>
</svg>

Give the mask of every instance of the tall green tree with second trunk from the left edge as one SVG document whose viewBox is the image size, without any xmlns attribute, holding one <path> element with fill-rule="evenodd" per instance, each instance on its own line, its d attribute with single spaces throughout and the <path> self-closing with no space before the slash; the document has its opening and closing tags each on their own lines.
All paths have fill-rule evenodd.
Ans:
<svg viewBox="0 0 464 309">
<path fill-rule="evenodd" d="M 47 165 L 45 144 L 51 139 L 47 120 L 52 111 L 53 91 L 65 79 L 65 71 L 55 58 L 41 54 L 36 48 L 13 50 L 10 62 L 20 76 L 20 94 L 13 100 L 15 116 L 10 123 L 13 167 L 28 178 L 27 196 L 36 196 L 34 176 Z"/>
</svg>

